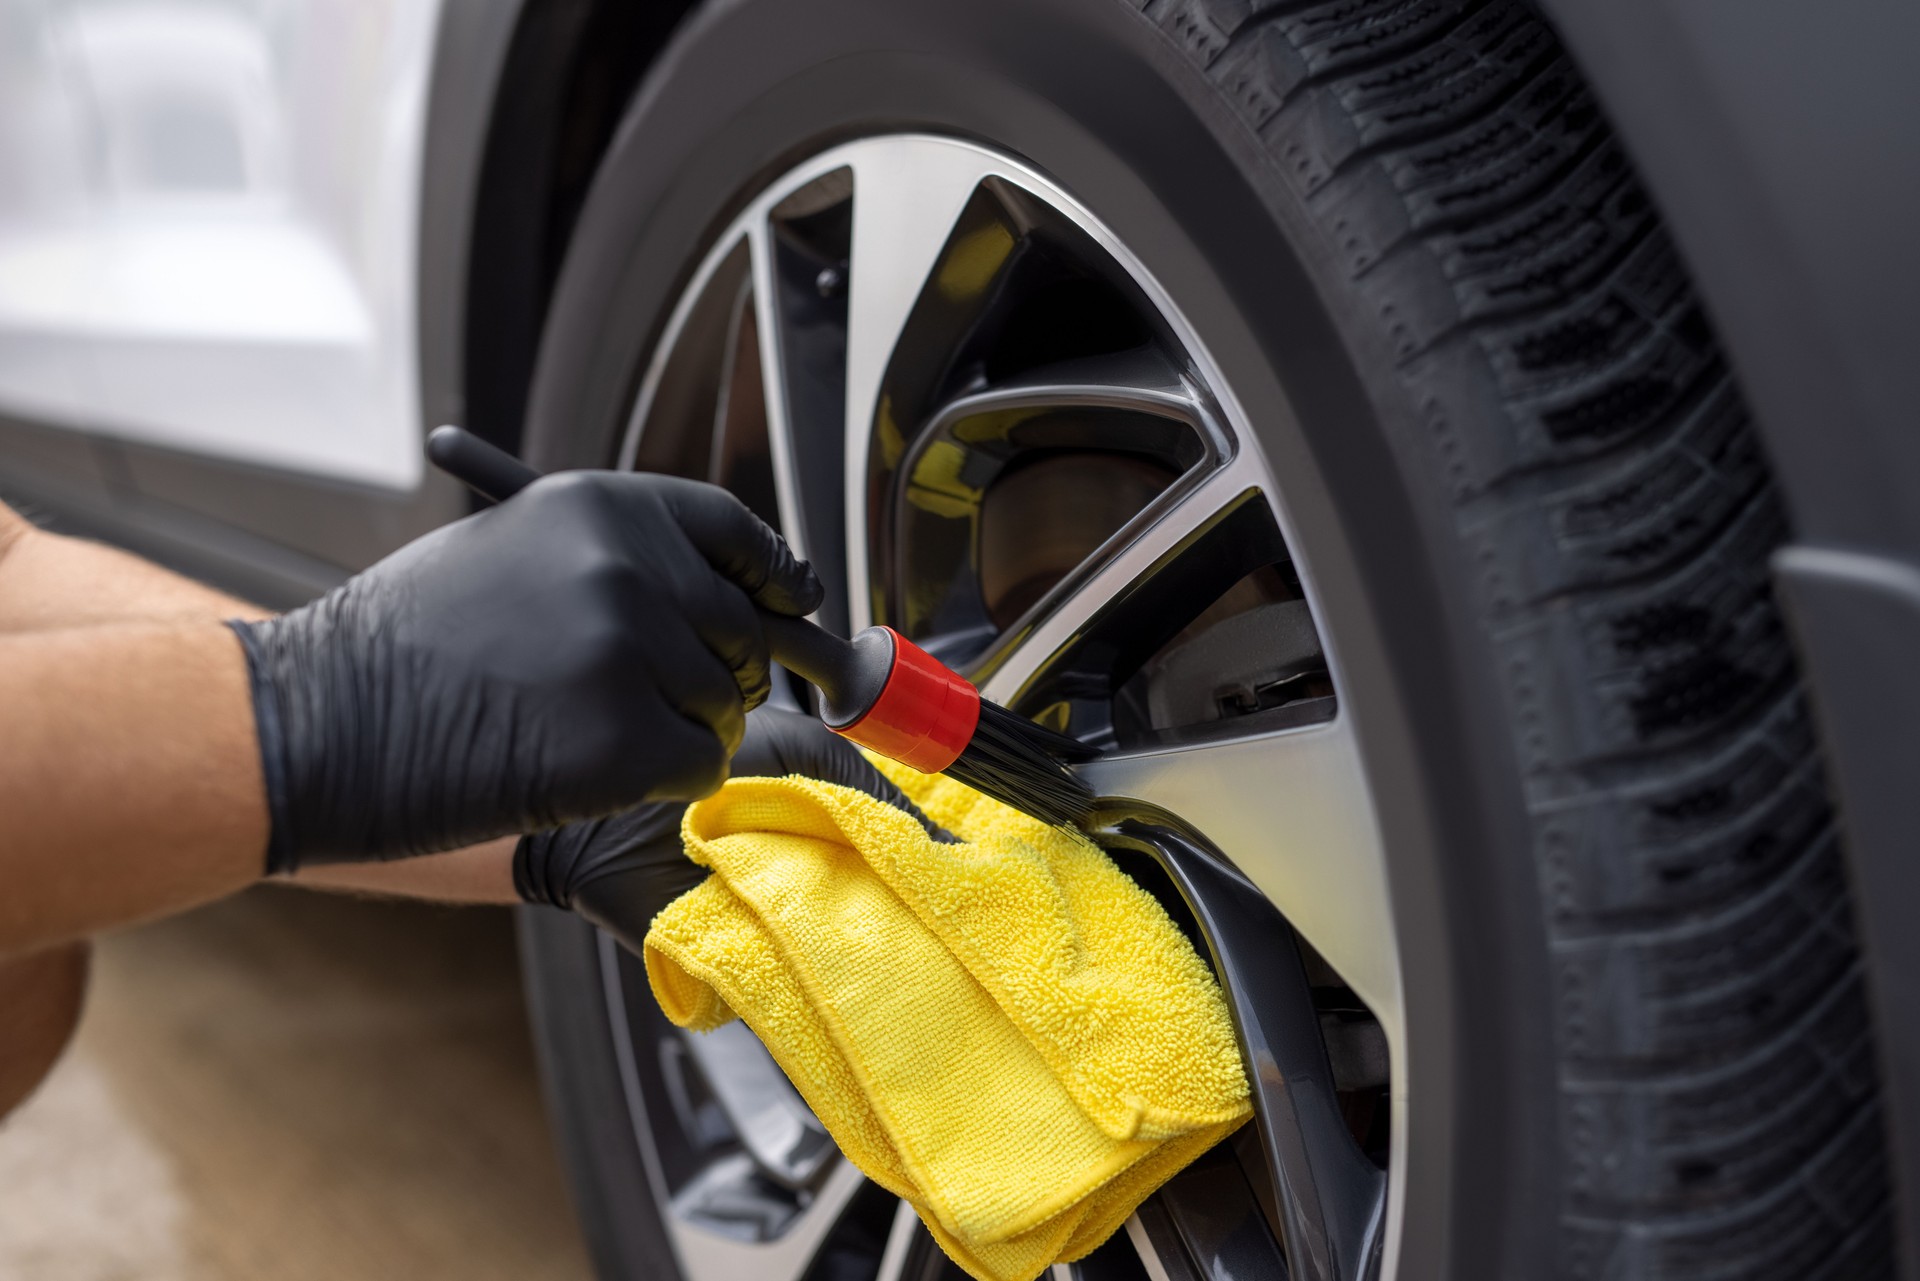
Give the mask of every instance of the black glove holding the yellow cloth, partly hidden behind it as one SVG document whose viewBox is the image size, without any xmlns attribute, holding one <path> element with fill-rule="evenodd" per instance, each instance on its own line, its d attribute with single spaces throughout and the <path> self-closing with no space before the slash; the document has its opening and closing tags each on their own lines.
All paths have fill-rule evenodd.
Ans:
<svg viewBox="0 0 1920 1281">
<path fill-rule="evenodd" d="M 747 716 L 733 776 L 787 774 L 858 787 L 906 810 L 937 839 L 952 839 L 929 824 L 852 743 L 812 716 L 762 707 Z M 513 853 L 513 885 L 528 903 L 570 906 L 637 953 L 660 908 L 707 880 L 707 868 L 687 858 L 680 843 L 685 810 L 680 803 L 641 805 L 611 818 L 526 835 Z"/>
</svg>

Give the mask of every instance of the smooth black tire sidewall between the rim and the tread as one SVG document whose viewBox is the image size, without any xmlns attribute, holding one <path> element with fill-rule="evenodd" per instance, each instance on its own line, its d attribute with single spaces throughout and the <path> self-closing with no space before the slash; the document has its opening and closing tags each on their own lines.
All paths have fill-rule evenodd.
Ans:
<svg viewBox="0 0 1920 1281">
<path fill-rule="evenodd" d="M 1379 317 L 1260 138 L 1137 10 L 703 10 L 628 111 L 580 215 L 534 375 L 528 459 L 609 465 L 645 355 L 732 215 L 806 156 L 897 131 L 977 138 L 1073 192 L 1167 290 L 1256 424 L 1340 661 L 1386 847 L 1407 1008 L 1409 1125 L 1396 1160 L 1411 1248 L 1398 1275 L 1551 1275 L 1561 1154 L 1542 899 L 1440 459 L 1423 407 L 1390 376 Z M 534 981 L 543 1024 L 570 1027 L 566 1054 L 595 1052 L 580 1035 L 595 1018 L 612 1052 L 597 987 L 553 991 L 538 966 Z M 549 1066 L 555 1091 L 566 1077 L 603 1089 L 597 1072 L 557 1054 Z M 622 1260 L 603 1250 L 603 1268 L 630 1269 L 659 1258 L 660 1225 L 624 1099 L 574 1114 L 595 1108 L 607 1110 L 597 1135 L 563 1141 L 589 1235 Z M 582 1160 L 582 1143 L 632 1154 L 626 1166 L 616 1150 Z"/>
</svg>

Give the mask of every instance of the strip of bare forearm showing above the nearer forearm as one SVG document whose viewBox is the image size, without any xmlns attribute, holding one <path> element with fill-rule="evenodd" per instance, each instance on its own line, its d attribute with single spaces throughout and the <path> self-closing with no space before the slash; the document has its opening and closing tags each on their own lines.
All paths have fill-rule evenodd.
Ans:
<svg viewBox="0 0 1920 1281">
<path fill-rule="evenodd" d="M 0 634 L 267 611 L 140 557 L 33 528 L 0 503 Z"/>
</svg>

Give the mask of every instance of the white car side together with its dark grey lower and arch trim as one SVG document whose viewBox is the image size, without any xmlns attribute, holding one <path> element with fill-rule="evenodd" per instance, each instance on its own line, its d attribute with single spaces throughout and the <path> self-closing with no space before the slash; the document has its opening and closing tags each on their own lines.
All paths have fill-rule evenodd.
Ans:
<svg viewBox="0 0 1920 1281">
<path fill-rule="evenodd" d="M 0 131 L 29 106 L 38 125 L 63 109 L 77 111 L 71 86 L 50 81 L 56 73 L 75 79 L 73 54 L 61 42 L 79 38 L 71 27 L 84 19 L 75 13 L 90 8 L 98 6 L 0 0 L 0 61 L 19 75 L 12 86 L 0 85 Z M 165 15 L 182 6 L 142 0 L 117 8 L 152 17 L 156 10 Z M 79 325 L 86 317 L 50 317 L 44 307 L 35 315 L 35 298 L 50 294 L 50 282 L 42 278 L 36 294 L 33 273 L 0 271 L 0 494 L 63 528 L 134 547 L 280 607 L 324 592 L 468 509 L 465 492 L 422 474 L 419 457 L 424 430 L 459 419 L 465 409 L 468 234 L 497 77 L 520 0 L 463 0 L 445 8 L 438 0 L 380 0 L 355 6 L 346 21 L 334 21 L 342 10 L 324 0 L 223 12 L 227 27 L 215 29 L 225 35 L 207 35 L 207 44 L 225 52 L 211 60 L 246 61 L 261 48 L 273 52 L 273 75 L 290 81 L 275 94 L 298 98 L 309 113 L 326 102 L 359 104 L 332 121 L 351 136 L 332 138 L 328 121 L 309 121 L 300 157 L 248 161 L 253 167 L 242 177 L 259 175 L 255 186 L 278 182 L 278 194 L 173 192 L 144 204 L 129 200 L 132 213 L 127 213 L 106 177 L 84 173 L 84 140 L 56 131 L 35 142 L 38 125 L 21 125 L 0 138 L 0 154 L 10 163 L 21 148 L 38 146 L 42 154 L 33 163 L 0 169 L 6 175 L 0 244 L 12 244 L 15 261 L 31 265 L 35 254 L 65 236 L 79 248 L 54 280 L 69 288 L 84 273 L 113 275 L 127 265 L 113 246 L 115 227 L 129 221 L 184 225 L 192 232 L 186 240 L 198 236 L 202 248 L 211 227 L 278 221 L 282 227 L 269 234 L 296 236 L 298 229 L 288 227 L 303 223 L 305 230 L 298 230 L 307 244 L 303 261 L 330 275 L 336 319 L 371 325 L 355 342 L 380 351 L 355 355 L 336 346 L 328 353 L 303 346 L 294 328 L 296 321 L 311 321 L 311 311 L 292 319 L 286 311 L 275 315 L 278 303 L 271 296 L 255 296 L 253 313 L 240 305 L 257 282 L 202 305 L 190 296 L 169 302 L 167 290 L 150 288 L 152 278 L 148 286 L 136 280 L 129 288 L 148 290 L 144 300 L 129 303 L 144 307 L 136 313 L 138 332 L 123 325 L 108 340 Z M 305 25 L 321 17 L 334 27 L 323 40 L 326 48 L 301 48 Z M 234 21 L 252 23 L 252 31 L 236 33 Z M 188 35 L 196 31 L 192 19 L 186 27 Z M 252 54 L 242 56 L 236 46 Z M 386 121 L 388 133 L 405 136 L 369 136 L 369 125 L 380 123 L 380 102 L 396 113 Z M 284 125 L 288 109 L 278 111 Z M 94 142 L 100 133 L 94 129 Z M 161 159 L 171 163 L 179 156 L 169 152 Z M 138 169 L 138 161 L 125 163 Z M 190 169 L 194 161 L 180 163 Z M 234 177 L 230 169 L 227 177 Z M 288 194 L 290 182 L 305 194 Z M 396 184 L 405 190 L 396 194 Z M 378 246 L 369 248 L 374 240 Z M 192 261 L 173 263 L 161 275 L 192 275 Z M 225 271 L 234 275 L 230 267 Z M 81 302 L 98 313 L 100 325 L 111 321 L 100 298 Z M 73 302 L 63 305 L 69 313 L 81 309 Z M 215 315 L 221 307 L 225 315 Z M 234 330 L 228 340 L 211 338 L 213 321 Z M 348 334 L 353 325 L 342 323 L 338 332 Z M 242 328 L 244 342 L 236 340 Z M 115 365 L 123 357 L 159 365 L 163 380 L 142 384 L 132 373 L 123 376 Z M 60 365 L 86 376 L 61 384 L 50 373 Z M 340 386 L 313 396 L 309 380 L 328 371 Z M 238 394 L 221 415 L 180 430 L 177 415 L 192 398 L 177 398 L 167 386 L 184 373 L 192 373 L 192 398 L 227 386 Z M 132 409 L 121 413 L 117 405 Z M 374 444 L 363 449 L 371 438 Z"/>
</svg>

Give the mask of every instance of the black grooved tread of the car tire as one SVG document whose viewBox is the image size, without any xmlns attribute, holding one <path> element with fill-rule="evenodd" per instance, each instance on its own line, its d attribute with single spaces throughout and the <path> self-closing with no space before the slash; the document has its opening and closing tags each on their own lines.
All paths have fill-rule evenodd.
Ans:
<svg viewBox="0 0 1920 1281">
<path fill-rule="evenodd" d="M 1786 517 L 1678 252 L 1521 0 L 1148 0 L 1421 405 L 1524 770 L 1567 1277 L 1874 1277 L 1887 1183 Z"/>
</svg>

